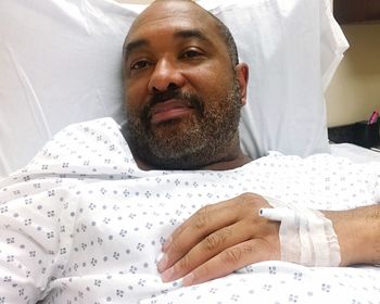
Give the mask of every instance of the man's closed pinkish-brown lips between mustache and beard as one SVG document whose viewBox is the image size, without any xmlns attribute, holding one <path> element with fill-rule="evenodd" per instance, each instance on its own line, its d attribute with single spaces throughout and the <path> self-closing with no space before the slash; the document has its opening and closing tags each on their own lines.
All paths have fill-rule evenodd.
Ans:
<svg viewBox="0 0 380 304">
<path fill-rule="evenodd" d="M 151 123 L 160 124 L 187 115 L 193 106 L 185 100 L 169 99 L 155 104 L 151 110 Z"/>
</svg>

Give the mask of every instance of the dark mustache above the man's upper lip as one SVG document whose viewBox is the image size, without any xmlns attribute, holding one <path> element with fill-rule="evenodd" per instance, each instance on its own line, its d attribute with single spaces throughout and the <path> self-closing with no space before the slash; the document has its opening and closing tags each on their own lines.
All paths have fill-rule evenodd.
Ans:
<svg viewBox="0 0 380 304">
<path fill-rule="evenodd" d="M 159 103 L 163 103 L 169 99 L 183 100 L 189 106 L 195 109 L 197 113 L 203 116 L 203 100 L 197 94 L 182 92 L 180 89 L 167 90 L 154 93 L 145 104 L 141 112 L 141 121 L 148 123 L 151 118 L 152 109 Z"/>
</svg>

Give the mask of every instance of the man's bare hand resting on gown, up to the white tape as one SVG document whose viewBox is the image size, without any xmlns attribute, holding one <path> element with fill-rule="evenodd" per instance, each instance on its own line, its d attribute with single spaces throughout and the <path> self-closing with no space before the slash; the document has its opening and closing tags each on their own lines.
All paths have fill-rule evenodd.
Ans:
<svg viewBox="0 0 380 304">
<path fill-rule="evenodd" d="M 252 263 L 280 259 L 279 223 L 258 216 L 270 207 L 256 194 L 207 205 L 178 227 L 163 245 L 157 264 L 163 281 L 183 284 L 226 276 Z"/>
</svg>

